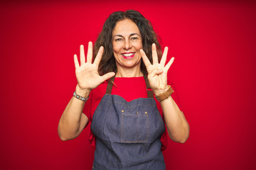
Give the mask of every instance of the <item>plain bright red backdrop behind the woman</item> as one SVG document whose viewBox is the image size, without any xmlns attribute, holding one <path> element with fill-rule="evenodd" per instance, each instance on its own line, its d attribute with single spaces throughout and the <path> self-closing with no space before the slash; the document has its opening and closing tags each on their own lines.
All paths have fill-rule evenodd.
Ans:
<svg viewBox="0 0 256 170">
<path fill-rule="evenodd" d="M 87 129 L 60 141 L 73 55 L 113 11 L 140 11 L 169 58 L 191 127 L 166 169 L 256 169 L 256 4 L 252 1 L 5 1 L 0 4 L 0 169 L 91 169 Z"/>
</svg>

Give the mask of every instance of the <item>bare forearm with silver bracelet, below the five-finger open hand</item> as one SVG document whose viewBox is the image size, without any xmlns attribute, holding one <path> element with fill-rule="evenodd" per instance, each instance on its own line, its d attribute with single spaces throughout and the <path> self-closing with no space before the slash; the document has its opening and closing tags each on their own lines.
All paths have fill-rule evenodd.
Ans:
<svg viewBox="0 0 256 170">
<path fill-rule="evenodd" d="M 80 91 L 78 86 L 75 91 L 78 95 L 85 98 L 90 94 L 90 91 Z M 82 119 L 82 110 L 84 106 L 85 101 L 81 101 L 74 96 L 70 99 L 58 124 L 58 135 L 61 140 L 71 140 L 78 137 L 82 129 L 85 127 L 87 124 L 87 117 L 84 116 Z M 81 120 L 83 120 L 83 122 Z"/>
</svg>

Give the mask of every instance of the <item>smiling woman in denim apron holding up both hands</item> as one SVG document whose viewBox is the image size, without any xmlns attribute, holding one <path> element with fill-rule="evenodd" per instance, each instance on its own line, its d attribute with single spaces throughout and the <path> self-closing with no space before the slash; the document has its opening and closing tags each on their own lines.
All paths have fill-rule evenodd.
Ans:
<svg viewBox="0 0 256 170">
<path fill-rule="evenodd" d="M 60 118 L 60 139 L 89 124 L 93 169 L 165 169 L 166 128 L 176 142 L 189 134 L 167 84 L 174 57 L 166 64 L 168 48 L 161 57 L 150 22 L 133 10 L 112 13 L 92 51 L 89 42 L 86 61 L 82 45 L 80 64 L 74 56 L 78 85 Z"/>
</svg>

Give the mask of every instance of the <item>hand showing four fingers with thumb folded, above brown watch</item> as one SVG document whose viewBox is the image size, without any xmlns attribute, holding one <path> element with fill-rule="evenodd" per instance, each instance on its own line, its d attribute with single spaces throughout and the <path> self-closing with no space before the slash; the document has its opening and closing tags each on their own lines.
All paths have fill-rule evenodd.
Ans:
<svg viewBox="0 0 256 170">
<path fill-rule="evenodd" d="M 166 64 L 168 47 L 164 48 L 164 53 L 161 57 L 160 63 L 158 62 L 156 45 L 152 44 L 152 58 L 153 64 L 149 61 L 149 58 L 146 57 L 144 50 L 140 50 L 140 54 L 142 55 L 142 60 L 146 66 L 146 70 L 148 72 L 149 86 L 156 96 L 162 94 L 164 91 L 168 89 L 167 86 L 167 72 L 171 67 L 171 64 L 174 62 L 174 57 L 171 57 L 171 60 Z M 166 64 L 166 65 L 165 65 Z"/>
</svg>

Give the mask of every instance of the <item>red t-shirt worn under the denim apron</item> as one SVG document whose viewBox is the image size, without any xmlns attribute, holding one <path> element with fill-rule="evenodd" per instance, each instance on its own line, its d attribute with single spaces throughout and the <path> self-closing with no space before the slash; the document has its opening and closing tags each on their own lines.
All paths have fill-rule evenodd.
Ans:
<svg viewBox="0 0 256 170">
<path fill-rule="evenodd" d="M 147 98 L 146 82 L 144 80 L 144 77 L 116 77 L 114 79 L 114 84 L 116 86 L 113 85 L 111 94 L 122 96 L 122 98 L 124 98 L 128 102 L 136 98 Z M 172 88 L 174 89 L 173 86 Z M 89 119 L 89 122 L 87 124 L 89 128 L 92 121 L 92 115 L 93 113 L 95 113 L 97 106 L 99 105 L 102 97 L 105 95 L 106 89 L 107 89 L 107 81 L 104 81 L 102 84 L 97 86 L 96 89 L 92 89 L 92 91 L 90 92 L 90 98 L 85 103 L 83 113 L 85 113 L 85 115 Z M 175 100 L 176 98 L 175 93 L 173 93 L 171 96 Z M 161 105 L 159 101 L 156 100 L 156 98 L 154 99 L 156 101 L 156 106 L 159 109 L 159 113 L 164 120 L 164 115 L 163 115 L 163 111 L 161 110 Z M 90 142 L 90 145 L 92 145 L 93 147 L 96 147 L 95 136 L 92 134 L 91 130 L 90 130 L 89 142 Z M 161 136 L 161 143 L 162 143 L 161 150 L 166 149 L 167 147 L 166 130 L 164 131 L 164 134 Z"/>
</svg>

